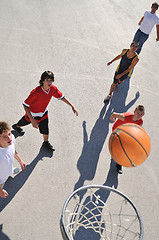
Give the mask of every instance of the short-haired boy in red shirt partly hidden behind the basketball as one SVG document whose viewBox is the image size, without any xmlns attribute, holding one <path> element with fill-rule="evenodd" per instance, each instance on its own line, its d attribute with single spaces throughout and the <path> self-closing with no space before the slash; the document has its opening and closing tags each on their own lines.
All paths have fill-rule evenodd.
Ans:
<svg viewBox="0 0 159 240">
<path fill-rule="evenodd" d="M 115 113 L 115 112 L 113 112 L 110 117 L 110 120 L 112 122 L 115 121 L 115 118 L 118 118 L 118 120 L 114 123 L 114 125 L 112 127 L 112 131 L 124 123 L 135 123 L 135 124 L 142 126 L 142 124 L 143 124 L 142 117 L 144 116 L 144 114 L 145 114 L 145 108 L 143 105 L 138 105 L 135 108 L 134 113 L 128 113 L 128 112 Z M 117 168 L 118 173 L 122 174 L 122 166 L 119 164 L 116 164 L 116 168 Z"/>
</svg>

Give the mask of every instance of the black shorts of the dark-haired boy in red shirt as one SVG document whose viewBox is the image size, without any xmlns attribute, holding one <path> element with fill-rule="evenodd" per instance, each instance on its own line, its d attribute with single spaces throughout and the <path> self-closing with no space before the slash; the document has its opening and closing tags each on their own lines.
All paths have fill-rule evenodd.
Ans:
<svg viewBox="0 0 159 240">
<path fill-rule="evenodd" d="M 45 113 L 45 115 L 47 115 L 48 113 Z M 43 116 L 43 117 L 44 117 Z M 28 116 L 27 116 L 28 117 Z M 39 117 L 35 117 L 34 118 L 35 120 L 38 120 L 38 123 L 39 123 L 39 132 L 41 134 L 45 134 L 45 135 L 48 135 L 49 134 L 49 120 L 48 120 L 48 117 L 46 117 L 45 119 L 42 119 L 40 120 L 41 118 Z M 25 116 L 23 116 L 18 122 L 17 122 L 17 126 L 19 127 L 23 127 L 23 126 L 26 126 L 28 124 L 30 124 L 31 122 L 28 121 Z"/>
</svg>

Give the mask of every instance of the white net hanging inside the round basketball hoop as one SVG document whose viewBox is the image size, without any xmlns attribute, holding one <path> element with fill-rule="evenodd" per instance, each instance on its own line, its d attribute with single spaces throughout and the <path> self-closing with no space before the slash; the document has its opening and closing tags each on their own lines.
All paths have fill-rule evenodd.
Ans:
<svg viewBox="0 0 159 240">
<path fill-rule="evenodd" d="M 106 187 L 77 191 L 63 212 L 66 239 L 142 239 L 139 213 L 130 199 L 119 193 Z"/>
</svg>

